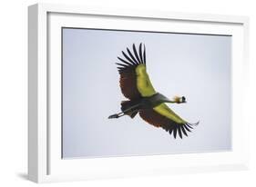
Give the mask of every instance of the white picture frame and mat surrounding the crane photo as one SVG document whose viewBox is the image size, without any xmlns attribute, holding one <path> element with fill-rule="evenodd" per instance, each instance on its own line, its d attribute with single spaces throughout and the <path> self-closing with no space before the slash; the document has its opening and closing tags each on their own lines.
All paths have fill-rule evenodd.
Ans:
<svg viewBox="0 0 256 187">
<path fill-rule="evenodd" d="M 109 22 L 104 22 L 108 19 Z M 87 22 L 85 22 L 87 20 Z M 118 25 L 118 22 L 130 25 Z M 61 159 L 59 110 L 62 26 L 131 29 L 147 21 L 178 33 L 232 34 L 232 151 L 94 159 Z M 249 123 L 246 112 L 249 68 L 249 19 L 235 15 L 99 9 L 73 5 L 28 7 L 28 178 L 60 182 L 138 175 L 245 170 L 249 168 Z M 171 25 L 175 25 L 171 27 Z M 53 63 L 55 62 L 55 63 Z M 240 124 L 240 126 L 238 126 Z M 241 125 L 242 124 L 242 125 Z"/>
</svg>

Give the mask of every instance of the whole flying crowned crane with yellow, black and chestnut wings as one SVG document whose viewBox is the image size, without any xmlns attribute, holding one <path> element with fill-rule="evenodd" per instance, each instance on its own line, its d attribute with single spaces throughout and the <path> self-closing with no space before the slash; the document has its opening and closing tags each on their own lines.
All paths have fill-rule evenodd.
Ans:
<svg viewBox="0 0 256 187">
<path fill-rule="evenodd" d="M 173 132 L 176 138 L 177 133 L 182 138 L 182 134 L 188 135 L 192 128 L 191 123 L 174 113 L 166 103 L 186 103 L 185 97 L 174 97 L 169 100 L 163 94 L 159 94 L 152 86 L 146 68 L 146 49 L 142 53 L 142 44 L 139 45 L 139 51 L 133 44 L 132 54 L 127 48 L 128 54 L 122 52 L 126 60 L 118 59 L 123 64 L 118 64 L 118 72 L 120 74 L 120 88 L 128 101 L 121 103 L 121 113 L 110 115 L 108 118 L 118 118 L 123 115 L 129 115 L 134 118 L 137 113 L 146 122 L 162 127 L 170 134 Z M 197 124 L 197 123 L 196 123 Z"/>
</svg>

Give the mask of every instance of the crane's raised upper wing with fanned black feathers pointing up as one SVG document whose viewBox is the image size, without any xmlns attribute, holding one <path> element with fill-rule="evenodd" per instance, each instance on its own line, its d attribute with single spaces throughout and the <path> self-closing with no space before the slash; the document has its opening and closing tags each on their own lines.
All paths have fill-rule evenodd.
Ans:
<svg viewBox="0 0 256 187">
<path fill-rule="evenodd" d="M 122 94 L 130 100 L 157 94 L 146 71 L 145 45 L 142 52 L 142 44 L 139 44 L 138 51 L 133 44 L 132 51 L 127 48 L 127 54 L 122 51 L 124 58 L 118 57 L 121 61 L 117 64 Z"/>
</svg>

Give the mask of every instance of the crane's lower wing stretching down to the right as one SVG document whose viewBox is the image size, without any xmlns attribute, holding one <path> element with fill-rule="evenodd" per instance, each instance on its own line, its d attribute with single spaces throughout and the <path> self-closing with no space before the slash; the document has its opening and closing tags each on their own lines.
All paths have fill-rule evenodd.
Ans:
<svg viewBox="0 0 256 187">
<path fill-rule="evenodd" d="M 139 115 L 146 122 L 156 127 L 162 127 L 169 134 L 173 133 L 174 138 L 176 138 L 178 133 L 180 138 L 182 138 L 182 135 L 188 136 L 188 132 L 191 132 L 193 128 L 192 126 L 198 124 L 187 123 L 165 103 L 161 103 L 152 109 L 140 111 Z"/>
</svg>

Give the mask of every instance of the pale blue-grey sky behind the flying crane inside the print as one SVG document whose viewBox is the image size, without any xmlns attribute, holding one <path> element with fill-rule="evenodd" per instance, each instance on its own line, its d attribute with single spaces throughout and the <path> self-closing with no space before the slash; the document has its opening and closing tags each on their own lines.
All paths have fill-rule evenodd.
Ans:
<svg viewBox="0 0 256 187">
<path fill-rule="evenodd" d="M 124 116 L 115 63 L 126 47 L 143 43 L 155 89 L 188 103 L 169 104 L 195 123 L 176 140 L 163 129 Z M 230 133 L 231 36 L 159 34 L 88 29 L 63 30 L 63 156 L 107 157 L 227 151 Z"/>
</svg>

